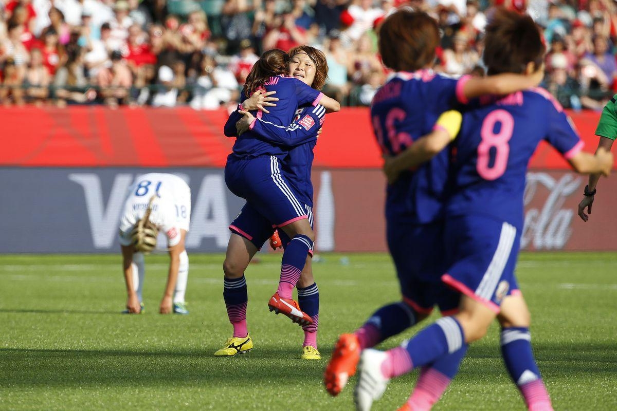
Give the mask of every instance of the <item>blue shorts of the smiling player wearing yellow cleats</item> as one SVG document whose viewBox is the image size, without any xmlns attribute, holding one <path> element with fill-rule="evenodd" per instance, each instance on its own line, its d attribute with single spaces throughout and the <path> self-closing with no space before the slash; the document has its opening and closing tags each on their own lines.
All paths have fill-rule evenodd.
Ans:
<svg viewBox="0 0 617 411">
<path fill-rule="evenodd" d="M 304 209 L 307 211 L 310 226 L 313 228 L 313 210 L 308 205 L 304 205 Z M 262 248 L 263 243 L 268 241 L 276 229 L 267 218 L 262 216 L 249 203 L 242 207 L 240 214 L 231 222 L 229 228 L 231 232 L 252 242 L 257 247 L 257 250 Z M 286 248 L 291 239 L 283 230 L 279 230 L 278 235 L 281 238 L 283 248 Z"/>
</svg>

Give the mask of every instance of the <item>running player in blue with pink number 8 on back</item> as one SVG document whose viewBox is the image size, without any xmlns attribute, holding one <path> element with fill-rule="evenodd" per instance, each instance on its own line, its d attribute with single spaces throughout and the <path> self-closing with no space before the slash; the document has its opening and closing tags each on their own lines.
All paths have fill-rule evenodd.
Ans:
<svg viewBox="0 0 617 411">
<path fill-rule="evenodd" d="M 487 25 L 485 42 L 489 75 L 543 71 L 545 48 L 531 17 L 499 10 Z M 462 356 L 455 354 L 482 338 L 499 315 L 505 325 L 503 357 L 528 409 L 552 411 L 528 327 L 508 327 L 508 322 L 524 322 L 521 317 L 529 315 L 522 295 L 509 291 L 518 288 L 514 267 L 523 226 L 525 174 L 540 140 L 553 145 L 579 173 L 610 173 L 612 155 L 604 150 L 595 156 L 581 152 L 578 134 L 544 89 L 481 98 L 463 112 L 452 149 L 445 205 L 447 269 L 442 275 L 442 281 L 460 294 L 459 312 L 437 320 L 399 348 L 363 351 L 354 393 L 358 410 L 369 410 L 390 378 L 418 367 L 438 372 L 437 365 L 449 368 L 452 375 L 440 372 L 428 381 L 422 381 L 421 374 L 415 393 L 402 407 L 430 409 L 441 396 L 441 386 L 457 372 Z M 437 398 L 427 392 L 434 387 L 439 388 Z"/>
</svg>

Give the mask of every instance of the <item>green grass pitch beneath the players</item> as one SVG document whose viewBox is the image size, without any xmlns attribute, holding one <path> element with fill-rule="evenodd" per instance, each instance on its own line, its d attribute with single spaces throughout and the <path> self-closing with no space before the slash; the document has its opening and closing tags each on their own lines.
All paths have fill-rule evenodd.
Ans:
<svg viewBox="0 0 617 411">
<path fill-rule="evenodd" d="M 321 376 L 337 335 L 398 297 L 386 254 L 324 254 L 320 362 L 301 361 L 302 332 L 268 312 L 280 254 L 247 270 L 255 349 L 215 358 L 231 336 L 223 256 L 189 255 L 191 314 L 159 315 L 164 255 L 146 259 L 143 315 L 121 315 L 117 256 L 0 256 L 2 410 L 351 410 L 351 385 L 329 397 Z M 532 343 L 556 410 L 617 410 L 617 254 L 523 254 L 518 279 L 532 311 Z M 420 325 L 422 327 L 423 325 Z M 391 348 L 413 329 L 381 345 Z M 524 410 L 498 346 L 473 344 L 434 410 Z M 416 374 L 392 381 L 375 410 L 395 410 Z"/>
</svg>

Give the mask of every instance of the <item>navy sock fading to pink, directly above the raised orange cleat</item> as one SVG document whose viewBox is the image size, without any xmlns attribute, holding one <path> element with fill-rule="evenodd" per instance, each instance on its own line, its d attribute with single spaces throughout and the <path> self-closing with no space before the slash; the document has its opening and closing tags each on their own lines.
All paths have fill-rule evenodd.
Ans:
<svg viewBox="0 0 617 411">
<path fill-rule="evenodd" d="M 355 331 L 360 348 L 371 348 L 416 324 L 412 307 L 400 302 L 383 306 Z"/>
</svg>

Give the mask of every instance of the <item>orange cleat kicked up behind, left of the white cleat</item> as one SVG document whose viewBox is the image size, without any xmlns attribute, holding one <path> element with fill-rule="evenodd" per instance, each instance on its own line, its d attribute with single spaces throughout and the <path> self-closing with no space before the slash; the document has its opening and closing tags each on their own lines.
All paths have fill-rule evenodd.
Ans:
<svg viewBox="0 0 617 411">
<path fill-rule="evenodd" d="M 342 334 L 336 341 L 332 358 L 323 375 L 326 391 L 337 396 L 347 384 L 349 377 L 355 374 L 360 360 L 360 343 L 354 334 Z"/>
</svg>

